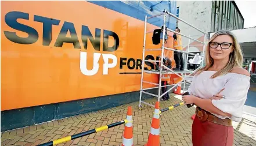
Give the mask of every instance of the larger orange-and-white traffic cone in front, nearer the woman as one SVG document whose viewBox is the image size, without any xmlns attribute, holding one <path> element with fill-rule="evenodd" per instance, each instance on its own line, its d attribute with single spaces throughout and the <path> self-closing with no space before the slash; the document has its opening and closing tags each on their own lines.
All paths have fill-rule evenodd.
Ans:
<svg viewBox="0 0 256 146">
<path fill-rule="evenodd" d="M 154 116 L 149 133 L 149 140 L 145 146 L 160 146 L 160 110 L 159 102 L 154 106 Z"/>
</svg>

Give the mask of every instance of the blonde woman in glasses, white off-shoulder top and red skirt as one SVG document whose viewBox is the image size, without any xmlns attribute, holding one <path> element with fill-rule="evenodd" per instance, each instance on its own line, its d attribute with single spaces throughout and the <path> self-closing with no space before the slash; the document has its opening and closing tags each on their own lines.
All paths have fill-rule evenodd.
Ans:
<svg viewBox="0 0 256 146">
<path fill-rule="evenodd" d="M 240 122 L 250 87 L 250 73 L 243 69 L 243 53 L 235 35 L 218 31 L 209 40 L 205 66 L 193 76 L 185 104 L 194 103 L 193 146 L 232 146 L 232 120 Z"/>
</svg>

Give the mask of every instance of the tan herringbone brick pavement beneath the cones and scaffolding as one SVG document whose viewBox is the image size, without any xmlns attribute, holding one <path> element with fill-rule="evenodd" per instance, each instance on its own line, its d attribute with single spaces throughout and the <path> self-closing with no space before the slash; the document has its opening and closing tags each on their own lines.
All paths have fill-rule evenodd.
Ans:
<svg viewBox="0 0 256 146">
<path fill-rule="evenodd" d="M 181 100 L 174 98 L 174 96 L 171 97 L 170 101 L 161 102 L 160 107 L 164 108 L 181 102 Z M 155 100 L 147 99 L 147 102 L 154 104 Z M 143 105 L 144 107 L 140 111 L 138 109 L 138 102 L 4 132 L 1 133 L 1 145 L 37 145 L 121 121 L 126 117 L 128 106 L 133 108 L 134 145 L 143 145 L 147 142 L 150 132 L 154 108 Z M 190 119 L 192 114 L 194 114 L 194 107 L 186 108 L 185 106 L 180 106 L 161 115 L 160 143 L 162 146 L 192 145 L 191 126 L 193 121 Z M 243 123 L 245 121 L 246 123 Z M 256 146 L 256 138 L 253 134 L 250 134 L 254 132 L 253 128 L 256 128 L 255 122 L 248 122 L 247 119 L 244 119 L 243 122 L 237 123 L 234 126 L 237 130 L 235 130 L 233 145 Z M 240 132 L 241 125 L 246 125 L 242 132 L 249 133 L 248 136 L 251 137 Z M 123 130 L 124 125 L 120 125 L 58 145 L 121 145 Z"/>
</svg>

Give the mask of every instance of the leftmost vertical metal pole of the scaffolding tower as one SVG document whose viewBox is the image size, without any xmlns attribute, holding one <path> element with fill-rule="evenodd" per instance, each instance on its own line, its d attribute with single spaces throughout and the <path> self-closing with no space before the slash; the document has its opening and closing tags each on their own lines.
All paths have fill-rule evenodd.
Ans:
<svg viewBox="0 0 256 146">
<path fill-rule="evenodd" d="M 140 78 L 139 107 L 141 107 L 143 72 L 144 72 L 144 63 L 145 63 L 146 29 L 147 29 L 147 16 L 145 16 L 145 25 L 144 25 L 143 54 L 142 54 L 142 73 L 141 73 L 141 78 Z"/>
</svg>

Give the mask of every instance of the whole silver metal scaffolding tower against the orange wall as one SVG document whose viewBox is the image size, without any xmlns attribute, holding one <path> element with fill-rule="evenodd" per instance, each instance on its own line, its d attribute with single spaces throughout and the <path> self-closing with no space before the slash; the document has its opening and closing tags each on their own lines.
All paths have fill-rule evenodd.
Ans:
<svg viewBox="0 0 256 146">
<path fill-rule="evenodd" d="M 154 18 L 154 17 L 158 17 L 158 16 L 162 16 L 163 15 L 163 28 L 167 28 L 165 23 L 166 23 L 166 16 L 171 16 L 171 17 L 174 17 L 176 18 L 178 21 L 182 21 L 183 23 L 185 24 L 188 24 L 189 27 L 191 28 L 194 28 L 196 29 L 197 31 L 203 33 L 204 35 L 204 42 L 201 42 L 199 40 L 196 40 L 196 39 L 193 39 L 189 36 L 186 36 L 186 35 L 183 35 L 182 33 L 178 33 L 178 32 L 175 32 L 169 28 L 167 28 L 166 30 L 167 31 L 170 31 L 170 32 L 173 32 L 173 33 L 176 33 L 177 35 L 181 35 L 185 38 L 188 38 L 189 39 L 189 44 L 188 44 L 188 50 L 187 51 L 181 51 L 181 50 L 175 50 L 174 48 L 168 48 L 168 47 L 165 47 L 164 46 L 164 39 L 165 39 L 165 29 L 163 29 L 163 41 L 162 41 L 162 44 L 161 44 L 161 48 L 153 48 L 153 49 L 148 49 L 146 48 L 146 34 L 147 33 L 152 33 L 153 31 L 150 31 L 150 32 L 147 32 L 147 20 L 150 19 L 150 18 Z M 199 55 L 199 54 L 194 54 L 194 53 L 190 53 L 189 52 L 189 47 L 190 47 L 190 39 L 196 41 L 196 42 L 199 42 L 201 43 L 201 45 L 203 46 L 203 55 Z M 142 61 L 142 75 L 141 75 L 141 80 L 140 80 L 140 96 L 139 96 L 139 109 L 142 110 L 142 103 L 143 104 L 147 104 L 148 106 L 152 106 L 154 107 L 154 105 L 150 104 L 150 103 L 147 103 L 147 102 L 144 102 L 142 101 L 142 93 L 145 93 L 147 95 L 152 95 L 154 97 L 157 98 L 157 101 L 160 102 L 160 98 L 163 97 L 166 93 L 170 92 L 173 88 L 175 88 L 176 86 L 178 86 L 179 84 L 183 84 L 183 91 L 185 91 L 185 84 L 186 84 L 186 80 L 188 80 L 188 83 L 189 83 L 189 78 L 192 78 L 191 74 L 196 72 L 196 70 L 200 69 L 203 67 L 203 62 L 204 62 L 204 51 L 205 51 L 205 41 L 207 40 L 207 33 L 201 31 L 200 29 L 194 27 L 193 25 L 187 23 L 186 21 L 182 20 L 181 18 L 179 17 L 176 17 L 174 14 L 168 12 L 167 10 L 164 10 L 163 13 L 160 13 L 160 14 L 156 14 L 154 16 L 150 16 L 150 17 L 147 17 L 145 16 L 145 25 L 144 25 L 144 40 L 143 40 L 143 61 Z M 160 51 L 161 50 L 161 61 L 154 61 L 154 60 L 145 60 L 145 51 Z M 180 53 L 184 53 L 185 54 L 185 63 L 184 63 L 184 67 L 185 67 L 185 70 L 181 70 L 181 71 L 174 71 L 172 69 L 169 69 L 167 66 L 165 66 L 163 64 L 163 58 L 164 58 L 164 50 L 171 50 L 171 51 L 178 51 Z M 197 68 L 196 70 L 187 70 L 187 63 L 188 63 L 188 54 L 190 55 L 199 55 L 201 57 L 203 57 L 203 61 L 200 63 L 200 66 L 199 68 Z M 144 64 L 145 62 L 160 62 L 159 63 L 159 68 L 160 70 L 145 70 L 144 69 Z M 165 70 L 163 70 L 163 68 L 165 68 Z M 152 73 L 152 74 L 159 74 L 159 82 L 158 84 L 157 83 L 152 83 L 152 82 L 149 82 L 149 81 L 144 81 L 143 80 L 143 73 Z M 163 74 L 176 74 L 177 76 L 181 77 L 182 80 L 179 81 L 178 83 L 175 83 L 175 84 L 171 84 L 171 85 L 161 85 L 161 81 L 162 81 L 162 77 Z M 180 75 L 181 74 L 181 75 Z M 157 85 L 157 87 L 152 87 L 152 88 L 144 88 L 143 89 L 143 83 L 146 83 L 146 84 L 153 84 L 153 85 Z M 172 86 L 170 89 L 168 89 L 166 92 L 162 93 L 161 94 L 161 87 L 168 87 L 168 86 Z M 158 88 L 158 95 L 155 95 L 153 93 L 149 93 L 149 92 L 146 92 L 146 90 L 149 90 L 149 89 L 155 89 L 155 88 Z"/>
</svg>

